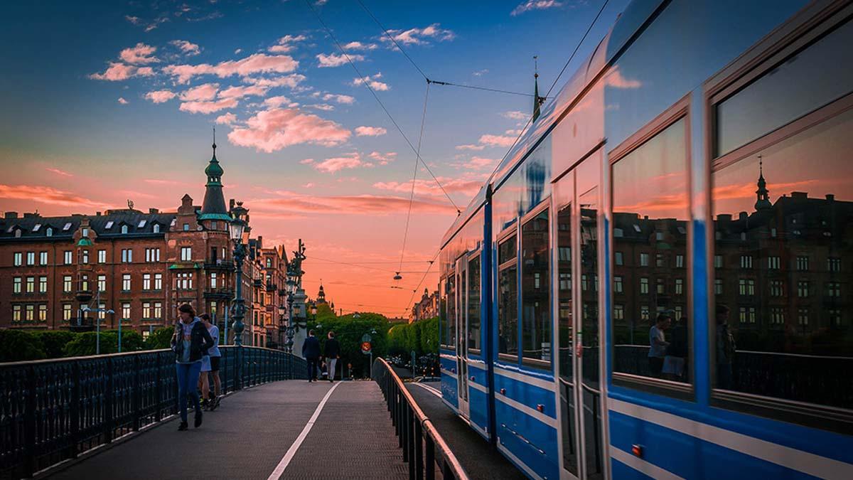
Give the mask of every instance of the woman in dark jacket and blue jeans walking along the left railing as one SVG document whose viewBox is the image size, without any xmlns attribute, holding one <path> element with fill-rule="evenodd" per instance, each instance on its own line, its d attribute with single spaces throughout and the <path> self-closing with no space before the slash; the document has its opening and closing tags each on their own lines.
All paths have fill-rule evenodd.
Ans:
<svg viewBox="0 0 853 480">
<path fill-rule="evenodd" d="M 180 319 L 171 337 L 171 349 L 175 352 L 177 407 L 181 413 L 181 424 L 177 430 L 183 431 L 187 430 L 187 395 L 195 408 L 195 428 L 201 426 L 201 405 L 196 385 L 199 383 L 202 357 L 213 346 L 213 339 L 205 324 L 195 316 L 192 305 L 184 303 L 177 308 L 177 313 Z"/>
</svg>

